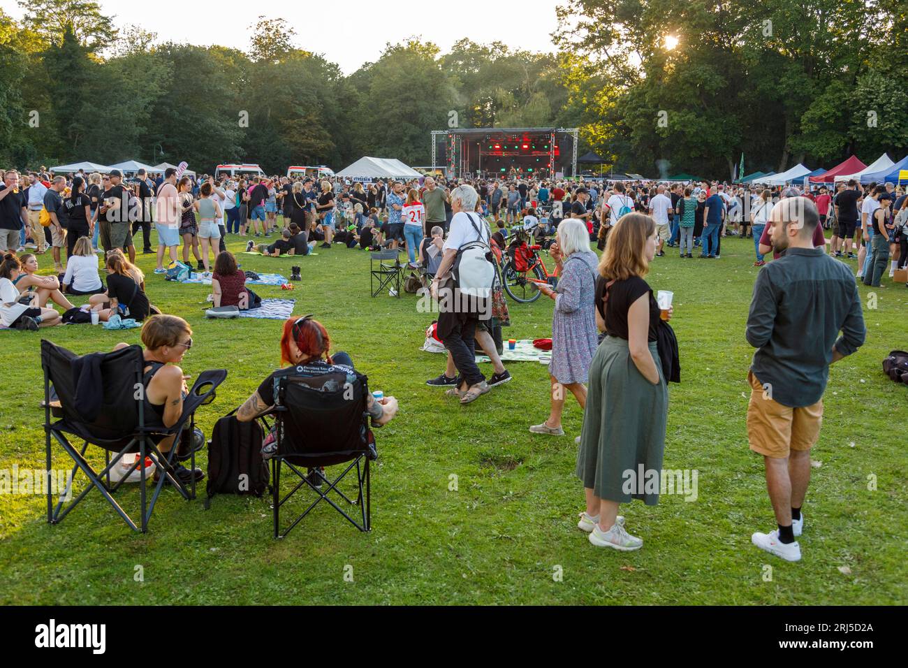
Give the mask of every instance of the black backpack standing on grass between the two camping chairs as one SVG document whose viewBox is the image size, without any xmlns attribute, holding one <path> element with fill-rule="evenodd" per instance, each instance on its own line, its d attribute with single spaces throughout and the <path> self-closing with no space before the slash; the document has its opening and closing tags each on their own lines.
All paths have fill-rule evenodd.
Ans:
<svg viewBox="0 0 908 668">
<path fill-rule="evenodd" d="M 214 423 L 208 440 L 208 483 L 205 509 L 214 494 L 262 496 L 268 482 L 268 464 L 262 459 L 262 425 L 240 422 L 233 411 Z"/>
</svg>

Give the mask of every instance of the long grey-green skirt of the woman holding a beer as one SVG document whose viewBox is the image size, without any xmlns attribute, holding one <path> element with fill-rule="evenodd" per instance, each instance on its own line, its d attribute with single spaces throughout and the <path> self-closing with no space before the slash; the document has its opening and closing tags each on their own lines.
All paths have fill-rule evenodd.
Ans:
<svg viewBox="0 0 908 668">
<path fill-rule="evenodd" d="M 649 352 L 659 372 L 657 385 L 637 371 L 627 340 L 617 336 L 603 339 L 589 366 L 576 473 L 600 499 L 659 501 L 668 388 L 655 342 Z"/>
</svg>

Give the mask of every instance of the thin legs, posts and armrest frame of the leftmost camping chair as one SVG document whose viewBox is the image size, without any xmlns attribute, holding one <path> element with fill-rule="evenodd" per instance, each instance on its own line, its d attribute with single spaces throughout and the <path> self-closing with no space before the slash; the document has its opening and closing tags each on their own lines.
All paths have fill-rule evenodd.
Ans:
<svg viewBox="0 0 908 668">
<path fill-rule="evenodd" d="M 135 378 L 137 384 L 142 384 L 143 382 L 143 367 L 141 360 L 137 364 L 137 369 L 135 370 Z M 47 522 L 51 524 L 61 523 L 64 517 L 74 509 L 74 507 L 81 503 L 85 495 L 88 494 L 93 487 L 104 496 L 104 499 L 107 503 L 110 503 L 114 508 L 117 514 L 123 518 L 125 522 L 133 531 L 139 531 L 146 533 L 148 531 L 148 521 L 151 519 L 152 512 L 154 510 L 154 504 L 157 503 L 158 496 L 163 490 L 163 484 L 165 481 L 170 481 L 171 484 L 177 489 L 177 491 L 183 496 L 186 501 L 190 501 L 195 498 L 195 479 L 193 477 L 192 484 L 187 487 L 186 484 L 183 484 L 174 474 L 173 474 L 173 464 L 176 461 L 176 453 L 178 445 L 180 443 L 180 437 L 183 434 L 183 429 L 188 426 L 189 433 L 192 434 L 192 431 L 195 427 L 195 410 L 202 404 L 210 403 L 213 400 L 213 395 L 217 386 L 223 382 L 223 379 L 226 377 L 226 371 L 220 370 L 216 372 L 204 372 L 199 376 L 199 379 L 192 386 L 192 390 L 187 395 L 193 398 L 192 411 L 190 413 L 185 413 L 181 417 L 180 421 L 177 424 L 174 424 L 165 435 L 173 434 L 173 447 L 170 449 L 169 453 L 165 456 L 159 449 L 157 444 L 155 444 L 151 438 L 152 432 L 147 430 L 144 426 L 144 403 L 138 402 L 138 419 L 139 426 L 136 434 L 133 434 L 133 437 L 130 439 L 129 443 L 126 444 L 123 449 L 116 453 L 114 459 L 111 460 L 111 450 L 104 448 L 103 445 L 95 443 L 99 447 L 104 448 L 104 468 L 98 472 L 95 471 L 91 464 L 88 463 L 88 460 L 85 459 L 85 451 L 88 449 L 88 445 L 93 443 L 90 440 L 82 438 L 83 445 L 81 450 L 76 450 L 73 444 L 69 442 L 69 439 L 66 438 L 67 432 L 64 428 L 61 428 L 59 425 L 62 423 L 51 423 L 51 396 L 50 396 L 50 385 L 51 379 L 50 374 L 48 373 L 47 368 L 44 368 L 44 446 L 45 446 L 45 455 L 46 455 L 46 470 L 48 476 L 50 475 L 51 466 L 51 439 L 53 437 L 60 446 L 64 449 L 64 452 L 68 454 L 74 461 L 75 465 L 73 470 L 67 480 L 66 486 L 64 488 L 63 494 L 60 494 L 59 500 L 54 508 L 53 493 L 51 490 L 51 485 L 47 485 Z M 197 390 L 202 386 L 212 384 L 212 387 L 202 393 L 198 394 Z M 211 396 L 211 399 L 208 397 Z M 188 424 L 187 424 L 188 423 Z M 156 431 L 155 434 L 160 432 Z M 129 453 L 131 450 L 134 450 L 135 445 L 138 444 L 138 457 L 129 470 L 123 474 L 123 478 L 119 480 L 116 484 L 111 484 L 110 472 L 116 464 L 120 462 L 124 454 Z M 145 488 L 145 483 L 147 478 L 145 476 L 145 457 L 148 457 L 152 460 L 152 463 L 155 465 L 155 468 L 161 472 L 157 484 L 155 484 L 154 492 L 152 494 L 151 503 L 148 502 L 147 490 Z M 190 461 L 192 469 L 195 468 L 195 450 L 192 449 L 190 455 Z M 141 516 L 140 522 L 136 523 L 133 518 L 126 513 L 121 505 L 114 500 L 113 494 L 120 488 L 120 486 L 126 482 L 126 479 L 135 471 L 136 467 L 142 464 L 142 468 L 139 471 L 139 494 L 141 497 Z M 75 496 L 69 503 L 66 503 L 66 499 L 72 494 L 73 484 L 75 480 L 75 474 L 81 471 L 85 474 L 85 477 L 88 478 L 90 484 L 87 484 L 84 489 Z M 104 480 L 102 480 L 104 478 Z M 49 482 L 49 481 L 48 481 Z M 65 504 L 65 505 L 64 505 Z"/>
</svg>

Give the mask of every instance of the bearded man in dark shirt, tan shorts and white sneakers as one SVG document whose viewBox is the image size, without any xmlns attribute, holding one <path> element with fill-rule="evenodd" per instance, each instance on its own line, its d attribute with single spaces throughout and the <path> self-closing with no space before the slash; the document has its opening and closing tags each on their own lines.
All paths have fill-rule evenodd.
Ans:
<svg viewBox="0 0 908 668">
<path fill-rule="evenodd" d="M 785 254 L 757 274 L 747 317 L 747 342 L 757 349 L 747 374 L 747 437 L 750 449 L 764 457 L 778 529 L 754 533 L 751 541 L 796 562 L 829 365 L 864 344 L 866 328 L 848 265 L 814 248 L 816 205 L 806 197 L 786 197 L 775 204 L 770 221 L 775 250 Z"/>
</svg>

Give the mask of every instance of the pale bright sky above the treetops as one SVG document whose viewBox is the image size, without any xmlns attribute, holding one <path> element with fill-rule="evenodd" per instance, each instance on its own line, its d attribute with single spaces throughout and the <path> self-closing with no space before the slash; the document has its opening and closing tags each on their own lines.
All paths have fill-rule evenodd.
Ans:
<svg viewBox="0 0 908 668">
<path fill-rule="evenodd" d="M 463 37 L 479 44 L 500 41 L 513 49 L 555 51 L 550 34 L 558 25 L 556 0 L 458 0 L 456 3 L 412 3 L 398 14 L 383 11 L 388 3 L 343 0 L 331 5 L 287 4 L 281 9 L 245 0 L 186 2 L 158 0 L 152 4 L 100 0 L 102 11 L 113 15 L 114 25 L 141 25 L 159 41 L 193 45 L 222 45 L 247 50 L 250 26 L 258 15 L 283 18 L 296 31 L 295 45 L 323 54 L 341 66 L 345 75 L 363 63 L 378 60 L 386 43 L 417 36 L 434 42 L 442 53 Z M 317 7 L 304 12 L 304 6 Z M 6 14 L 25 14 L 15 0 L 0 0 Z M 252 11 L 250 10 L 252 7 Z"/>
</svg>

